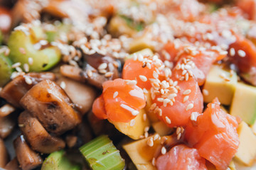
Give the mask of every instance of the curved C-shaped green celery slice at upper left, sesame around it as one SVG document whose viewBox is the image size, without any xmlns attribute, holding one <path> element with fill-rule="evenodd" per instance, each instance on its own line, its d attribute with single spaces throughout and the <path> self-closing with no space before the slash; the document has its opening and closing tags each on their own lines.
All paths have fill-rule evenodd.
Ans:
<svg viewBox="0 0 256 170">
<path fill-rule="evenodd" d="M 8 41 L 11 50 L 9 57 L 13 62 L 28 63 L 28 58 L 33 59 L 30 71 L 41 72 L 50 69 L 60 61 L 60 50 L 58 47 L 45 45 L 39 50 L 35 45 L 43 40 L 46 35 L 39 27 L 33 27 L 29 35 L 22 30 L 14 30 Z"/>
</svg>

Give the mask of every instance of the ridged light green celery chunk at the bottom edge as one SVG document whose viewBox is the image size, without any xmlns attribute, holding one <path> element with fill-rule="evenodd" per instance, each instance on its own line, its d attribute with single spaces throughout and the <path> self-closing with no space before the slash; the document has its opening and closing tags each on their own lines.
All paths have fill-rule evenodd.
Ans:
<svg viewBox="0 0 256 170">
<path fill-rule="evenodd" d="M 106 135 L 83 145 L 80 147 L 80 152 L 93 170 L 124 169 L 124 159 Z"/>
</svg>

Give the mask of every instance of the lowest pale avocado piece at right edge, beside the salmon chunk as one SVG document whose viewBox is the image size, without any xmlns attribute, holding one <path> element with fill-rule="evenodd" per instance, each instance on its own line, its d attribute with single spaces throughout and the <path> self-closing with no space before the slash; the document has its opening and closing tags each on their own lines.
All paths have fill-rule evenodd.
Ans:
<svg viewBox="0 0 256 170">
<path fill-rule="evenodd" d="M 240 145 L 238 152 L 235 154 L 235 159 L 246 166 L 251 166 L 256 157 L 256 136 L 247 123 L 243 121 L 238 126 L 238 136 Z"/>
</svg>

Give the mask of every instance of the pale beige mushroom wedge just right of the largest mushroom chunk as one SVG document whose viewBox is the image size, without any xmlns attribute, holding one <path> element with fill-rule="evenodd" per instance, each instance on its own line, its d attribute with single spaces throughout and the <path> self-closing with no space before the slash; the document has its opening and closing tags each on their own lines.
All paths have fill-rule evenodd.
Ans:
<svg viewBox="0 0 256 170">
<path fill-rule="evenodd" d="M 96 90 L 92 86 L 65 77 L 58 77 L 56 83 L 68 94 L 82 115 L 92 108 L 96 98 Z"/>
</svg>

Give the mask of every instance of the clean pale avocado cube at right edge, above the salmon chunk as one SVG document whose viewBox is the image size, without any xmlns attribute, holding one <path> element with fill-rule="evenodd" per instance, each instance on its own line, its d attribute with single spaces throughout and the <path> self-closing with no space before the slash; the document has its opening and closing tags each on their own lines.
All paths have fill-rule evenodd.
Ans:
<svg viewBox="0 0 256 170">
<path fill-rule="evenodd" d="M 256 87 L 243 83 L 236 86 L 230 114 L 239 116 L 245 123 L 253 125 L 256 119 Z"/>
</svg>

